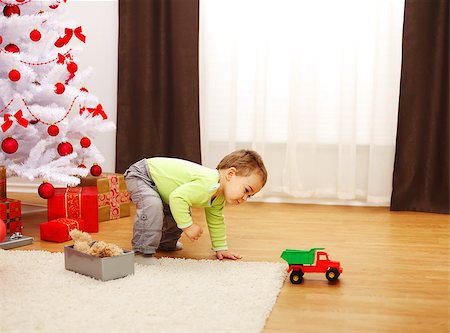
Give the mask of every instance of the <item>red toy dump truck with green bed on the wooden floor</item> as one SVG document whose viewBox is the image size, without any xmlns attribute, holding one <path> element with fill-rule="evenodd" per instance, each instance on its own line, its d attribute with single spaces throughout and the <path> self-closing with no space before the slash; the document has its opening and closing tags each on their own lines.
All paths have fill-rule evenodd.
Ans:
<svg viewBox="0 0 450 333">
<path fill-rule="evenodd" d="M 311 250 L 290 250 L 286 249 L 281 254 L 281 258 L 289 264 L 289 279 L 293 284 L 300 284 L 303 281 L 304 273 L 325 273 L 328 281 L 334 282 L 342 273 L 340 262 L 332 261 L 324 248 L 312 248 Z"/>
</svg>

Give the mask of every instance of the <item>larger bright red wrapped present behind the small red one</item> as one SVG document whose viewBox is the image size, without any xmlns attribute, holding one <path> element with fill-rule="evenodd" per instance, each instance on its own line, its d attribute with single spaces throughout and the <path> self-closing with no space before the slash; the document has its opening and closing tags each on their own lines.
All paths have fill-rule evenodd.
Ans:
<svg viewBox="0 0 450 333">
<path fill-rule="evenodd" d="M 83 219 L 84 231 L 98 232 L 97 188 L 56 188 L 47 201 L 47 218 L 51 221 L 61 217 Z"/>
</svg>

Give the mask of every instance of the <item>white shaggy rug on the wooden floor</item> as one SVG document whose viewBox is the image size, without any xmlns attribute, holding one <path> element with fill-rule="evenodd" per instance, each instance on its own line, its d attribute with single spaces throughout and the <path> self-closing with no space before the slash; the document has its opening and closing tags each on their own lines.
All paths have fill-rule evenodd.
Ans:
<svg viewBox="0 0 450 333">
<path fill-rule="evenodd" d="M 150 259 L 101 282 L 64 254 L 0 250 L 0 332 L 261 332 L 286 265 Z"/>
</svg>

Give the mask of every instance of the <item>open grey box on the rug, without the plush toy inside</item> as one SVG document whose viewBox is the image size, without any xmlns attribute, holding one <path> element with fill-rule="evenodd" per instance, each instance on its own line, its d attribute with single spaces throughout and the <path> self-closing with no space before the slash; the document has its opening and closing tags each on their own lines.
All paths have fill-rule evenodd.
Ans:
<svg viewBox="0 0 450 333">
<path fill-rule="evenodd" d="M 120 256 L 99 258 L 77 251 L 73 245 L 64 247 L 64 263 L 69 271 L 108 281 L 134 274 L 134 252 L 123 250 Z"/>
</svg>

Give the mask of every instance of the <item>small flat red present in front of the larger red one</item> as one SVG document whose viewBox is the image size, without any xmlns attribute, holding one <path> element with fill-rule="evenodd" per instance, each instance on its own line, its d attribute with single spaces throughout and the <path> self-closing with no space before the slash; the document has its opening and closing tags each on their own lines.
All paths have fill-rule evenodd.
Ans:
<svg viewBox="0 0 450 333">
<path fill-rule="evenodd" d="M 83 219 L 62 217 L 41 223 L 39 229 L 41 232 L 41 240 L 62 243 L 72 239 L 69 235 L 71 230 L 78 229 L 84 231 L 85 224 Z"/>
</svg>

